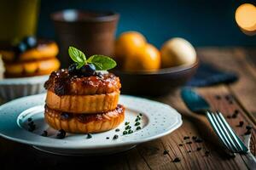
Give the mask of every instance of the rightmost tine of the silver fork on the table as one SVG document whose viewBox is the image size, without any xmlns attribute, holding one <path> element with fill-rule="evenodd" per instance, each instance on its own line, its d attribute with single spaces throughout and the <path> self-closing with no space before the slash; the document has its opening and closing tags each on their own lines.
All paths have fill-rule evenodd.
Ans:
<svg viewBox="0 0 256 170">
<path fill-rule="evenodd" d="M 247 153 L 248 149 L 246 147 L 245 144 L 243 144 L 243 142 L 241 142 L 241 139 L 236 135 L 236 133 L 232 130 L 232 128 L 230 127 L 229 123 L 226 122 L 226 120 L 224 119 L 224 116 L 222 115 L 221 112 L 218 111 L 218 116 L 221 119 L 221 121 L 224 123 L 224 126 L 228 129 L 230 135 L 233 137 L 233 139 L 236 141 L 236 144 L 239 146 L 241 152 L 243 153 Z"/>
</svg>

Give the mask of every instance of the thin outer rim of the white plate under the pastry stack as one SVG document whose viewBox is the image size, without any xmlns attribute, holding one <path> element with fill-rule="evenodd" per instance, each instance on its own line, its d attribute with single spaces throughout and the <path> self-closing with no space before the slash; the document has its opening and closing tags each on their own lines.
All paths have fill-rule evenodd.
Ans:
<svg viewBox="0 0 256 170">
<path fill-rule="evenodd" d="M 4 107 L 9 106 L 9 105 L 13 105 L 13 103 L 19 102 L 20 100 L 27 99 L 27 98 L 34 98 L 34 97 L 37 97 L 37 96 L 44 96 L 44 95 L 45 94 L 36 94 L 36 95 L 22 97 L 22 98 L 19 98 L 19 99 L 14 99 L 12 101 L 9 101 L 6 104 L 0 105 L 0 110 L 2 108 L 4 108 Z M 159 138 L 161 138 L 163 136 L 166 136 L 167 134 L 172 133 L 178 127 L 181 127 L 181 125 L 183 124 L 183 120 L 182 120 L 181 114 L 178 113 L 177 110 L 172 108 L 170 105 L 167 105 L 167 104 L 164 104 L 164 103 L 161 103 L 159 101 L 152 100 L 152 99 L 145 99 L 145 98 L 141 98 L 141 97 L 137 97 L 137 96 L 132 96 L 132 95 L 121 94 L 121 96 L 128 97 L 128 98 L 143 99 L 143 100 L 148 100 L 149 102 L 158 103 L 160 105 L 166 105 L 166 107 L 168 107 L 169 109 L 174 111 L 174 113 L 176 114 L 176 117 L 177 117 L 177 121 L 172 125 L 172 127 L 169 127 L 168 129 L 166 129 L 166 132 L 156 134 L 156 135 L 154 135 L 152 137 L 148 137 L 148 138 L 144 138 L 144 139 L 139 139 L 137 141 L 132 140 L 132 141 L 119 142 L 119 143 L 115 143 L 115 144 L 98 144 L 98 145 L 96 145 L 96 147 L 92 147 L 92 146 L 86 147 L 86 145 L 79 145 L 79 146 L 77 146 L 77 145 L 68 145 L 67 146 L 67 145 L 64 145 L 64 144 L 63 145 L 62 144 L 59 144 L 59 145 L 57 145 L 57 144 L 49 145 L 49 144 L 38 143 L 38 142 L 32 141 L 32 140 L 26 140 L 26 139 L 19 139 L 19 138 L 10 137 L 9 135 L 5 135 L 2 132 L 0 132 L 0 136 L 3 137 L 4 139 L 9 139 L 9 140 L 21 143 L 21 144 L 28 144 L 28 145 L 38 146 L 38 147 L 41 146 L 41 147 L 47 147 L 47 148 L 53 148 L 53 149 L 63 149 L 63 150 L 67 150 L 67 149 L 68 150 L 81 150 L 81 149 L 93 150 L 93 149 L 104 149 L 104 148 L 112 148 L 112 147 L 121 147 L 121 146 L 132 145 L 132 144 L 142 144 L 142 143 L 145 143 L 145 142 L 148 142 L 148 141 L 151 141 L 151 140 L 154 140 L 154 139 L 159 139 Z M 34 105 L 34 106 L 37 106 L 37 105 Z M 29 109 L 29 108 L 27 108 L 27 109 Z M 19 127 L 18 124 L 15 124 L 15 125 L 17 127 Z M 22 129 L 22 130 L 24 130 L 24 129 Z M 30 135 L 38 136 L 38 134 L 35 134 L 35 133 L 31 133 Z M 42 137 L 42 138 L 44 138 L 44 137 Z"/>
</svg>

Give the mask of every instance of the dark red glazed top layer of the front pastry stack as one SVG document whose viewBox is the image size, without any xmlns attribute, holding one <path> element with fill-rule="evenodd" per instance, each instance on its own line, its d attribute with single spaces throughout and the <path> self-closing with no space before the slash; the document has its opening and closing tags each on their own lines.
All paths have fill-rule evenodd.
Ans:
<svg viewBox="0 0 256 170">
<path fill-rule="evenodd" d="M 96 76 L 69 74 L 67 69 L 54 71 L 45 82 L 44 88 L 57 95 L 77 94 L 108 94 L 121 87 L 119 77 L 112 73 L 97 73 Z"/>
</svg>

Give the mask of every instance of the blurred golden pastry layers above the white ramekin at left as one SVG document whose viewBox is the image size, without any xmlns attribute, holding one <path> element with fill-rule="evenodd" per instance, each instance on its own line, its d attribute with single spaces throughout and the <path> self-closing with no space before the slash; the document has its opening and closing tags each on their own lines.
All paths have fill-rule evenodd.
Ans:
<svg viewBox="0 0 256 170">
<path fill-rule="evenodd" d="M 50 74 L 59 69 L 60 62 L 56 59 L 59 49 L 52 41 L 39 41 L 35 47 L 22 53 L 14 50 L 0 50 L 3 56 L 6 77 L 33 77 Z"/>
</svg>

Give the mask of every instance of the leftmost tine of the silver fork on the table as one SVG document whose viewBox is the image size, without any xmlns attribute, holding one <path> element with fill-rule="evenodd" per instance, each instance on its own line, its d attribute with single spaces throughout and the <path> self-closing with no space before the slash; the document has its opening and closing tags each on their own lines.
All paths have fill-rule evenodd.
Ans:
<svg viewBox="0 0 256 170">
<path fill-rule="evenodd" d="M 208 121 L 211 123 L 213 130 L 215 133 L 217 133 L 219 139 L 222 141 L 222 143 L 229 149 L 232 150 L 231 144 L 228 139 L 224 136 L 224 133 L 222 132 L 222 129 L 218 127 L 218 124 L 216 124 L 215 117 L 213 117 L 212 112 L 207 111 L 207 118 Z"/>
</svg>

